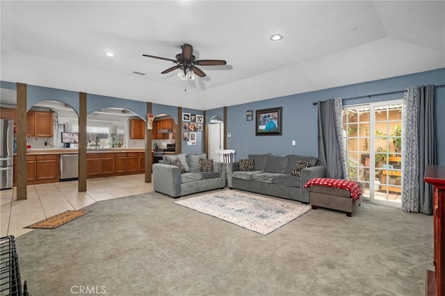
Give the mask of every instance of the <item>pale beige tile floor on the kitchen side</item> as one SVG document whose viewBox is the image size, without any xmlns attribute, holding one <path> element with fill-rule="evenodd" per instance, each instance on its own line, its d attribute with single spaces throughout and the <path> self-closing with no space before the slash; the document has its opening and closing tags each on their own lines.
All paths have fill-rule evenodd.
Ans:
<svg viewBox="0 0 445 296">
<path fill-rule="evenodd" d="M 95 202 L 152 192 L 144 174 L 87 180 L 87 191 L 78 192 L 78 181 L 29 185 L 28 199 L 17 200 L 16 188 L 0 191 L 0 237 L 21 236 L 33 229 L 23 227 L 68 210 Z"/>
</svg>

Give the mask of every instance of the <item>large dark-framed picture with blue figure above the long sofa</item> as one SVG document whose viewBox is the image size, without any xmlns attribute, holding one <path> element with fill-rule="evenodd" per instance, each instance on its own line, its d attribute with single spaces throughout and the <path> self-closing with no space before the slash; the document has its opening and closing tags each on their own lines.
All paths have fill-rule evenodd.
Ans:
<svg viewBox="0 0 445 296">
<path fill-rule="evenodd" d="M 257 110 L 256 135 L 281 135 L 282 110 L 282 107 Z"/>
</svg>

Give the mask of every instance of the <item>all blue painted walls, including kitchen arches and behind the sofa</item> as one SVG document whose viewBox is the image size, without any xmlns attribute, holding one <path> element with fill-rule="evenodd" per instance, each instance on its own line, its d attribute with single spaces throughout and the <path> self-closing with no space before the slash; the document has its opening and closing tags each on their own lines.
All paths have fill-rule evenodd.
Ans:
<svg viewBox="0 0 445 296">
<path fill-rule="evenodd" d="M 335 97 L 343 99 L 343 105 L 363 104 L 374 101 L 386 101 L 390 99 L 403 98 L 403 90 L 417 85 L 444 85 L 445 68 L 421 72 L 416 74 L 397 76 L 390 79 L 345 85 L 339 88 L 330 88 L 316 92 L 293 94 L 286 97 L 254 101 L 248 104 L 240 104 L 227 107 L 227 132 L 232 134 L 227 138 L 227 148 L 235 149 L 236 159 L 246 158 L 248 154 L 273 153 L 279 155 L 304 154 L 318 155 L 317 144 L 317 113 L 318 108 L 312 103 L 325 101 Z M 1 81 L 1 88 L 15 90 L 16 84 Z M 42 88 L 28 85 L 28 106 L 31 108 L 38 101 L 54 99 L 63 101 L 79 113 L 79 92 L 57 90 L 53 88 Z M 120 107 L 131 110 L 144 120 L 147 120 L 146 103 L 114 97 L 104 97 L 97 94 L 88 94 L 88 114 L 95 110 L 106 107 Z M 436 87 L 436 134 L 437 134 L 437 164 L 445 165 L 445 87 Z M 245 111 L 259 110 L 264 108 L 283 108 L 282 135 L 255 135 L 255 120 L 246 121 Z M 153 104 L 153 114 L 168 113 L 178 122 L 177 107 Z M 183 108 L 184 113 L 203 114 L 202 110 Z M 206 124 L 213 116 L 223 119 L 223 108 L 207 110 Z M 182 126 L 178 126 L 182 131 Z M 182 142 L 184 153 L 199 153 L 204 149 L 203 132 L 197 132 L 197 145 L 188 146 Z M 291 145 L 296 140 L 296 146 Z"/>
</svg>

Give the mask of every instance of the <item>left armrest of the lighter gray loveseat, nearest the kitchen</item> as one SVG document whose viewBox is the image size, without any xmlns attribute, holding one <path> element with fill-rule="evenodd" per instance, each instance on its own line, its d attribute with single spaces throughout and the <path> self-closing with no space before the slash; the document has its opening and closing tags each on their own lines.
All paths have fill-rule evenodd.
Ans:
<svg viewBox="0 0 445 296">
<path fill-rule="evenodd" d="M 154 191 L 170 195 L 171 197 L 181 196 L 181 170 L 179 167 L 154 163 L 152 170 Z"/>
</svg>

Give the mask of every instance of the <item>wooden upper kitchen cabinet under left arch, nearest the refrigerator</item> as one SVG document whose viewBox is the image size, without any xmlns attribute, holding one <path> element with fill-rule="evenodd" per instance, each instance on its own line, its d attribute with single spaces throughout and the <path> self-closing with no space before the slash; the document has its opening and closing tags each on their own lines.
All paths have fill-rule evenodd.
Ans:
<svg viewBox="0 0 445 296">
<path fill-rule="evenodd" d="M 53 113 L 48 111 L 29 110 L 26 113 L 26 128 L 28 136 L 52 137 Z"/>
</svg>

